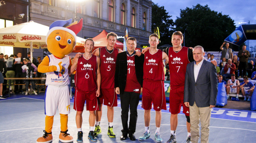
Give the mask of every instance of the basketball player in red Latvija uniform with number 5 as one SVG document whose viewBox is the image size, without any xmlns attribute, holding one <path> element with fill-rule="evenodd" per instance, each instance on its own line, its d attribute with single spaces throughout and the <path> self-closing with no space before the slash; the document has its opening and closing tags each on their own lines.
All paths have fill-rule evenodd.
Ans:
<svg viewBox="0 0 256 143">
<path fill-rule="evenodd" d="M 102 104 L 108 107 L 108 135 L 110 138 L 115 138 L 113 132 L 114 107 L 117 106 L 117 96 L 115 92 L 115 71 L 116 57 L 118 53 L 123 52 L 121 49 L 114 48 L 117 35 L 114 32 L 107 34 L 107 46 L 98 48 L 92 52 L 93 55 L 100 57 L 100 73 L 101 73 L 101 89 L 98 97 L 99 110 L 96 111 L 96 124 L 94 136 L 101 133 L 100 120 L 102 115 Z M 136 55 L 140 56 L 141 52 L 136 51 Z"/>
</svg>

